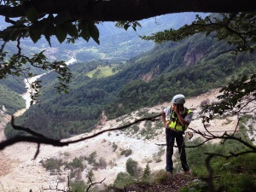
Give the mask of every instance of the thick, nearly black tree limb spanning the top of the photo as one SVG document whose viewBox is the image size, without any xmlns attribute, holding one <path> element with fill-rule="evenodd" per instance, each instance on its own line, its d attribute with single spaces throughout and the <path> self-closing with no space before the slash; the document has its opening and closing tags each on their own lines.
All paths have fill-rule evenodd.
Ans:
<svg viewBox="0 0 256 192">
<path fill-rule="evenodd" d="M 25 16 L 30 8 L 38 15 L 58 14 L 69 10 L 74 18 L 86 20 L 142 20 L 157 15 L 181 12 L 234 13 L 256 11 L 254 0 L 31 0 L 17 7 L 0 6 L 0 15 Z"/>
</svg>

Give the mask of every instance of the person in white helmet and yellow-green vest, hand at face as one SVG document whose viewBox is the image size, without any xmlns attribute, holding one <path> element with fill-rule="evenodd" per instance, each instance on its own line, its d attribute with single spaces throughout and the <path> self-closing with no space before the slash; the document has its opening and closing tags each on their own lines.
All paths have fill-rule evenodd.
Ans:
<svg viewBox="0 0 256 192">
<path fill-rule="evenodd" d="M 176 139 L 180 160 L 185 174 L 190 174 L 184 148 L 183 133 L 192 120 L 193 113 L 184 107 L 185 96 L 173 96 L 172 106 L 162 111 L 162 119 L 166 127 L 166 172 L 172 175 L 173 171 L 173 146 Z M 167 117 L 167 120 L 166 120 Z"/>
</svg>

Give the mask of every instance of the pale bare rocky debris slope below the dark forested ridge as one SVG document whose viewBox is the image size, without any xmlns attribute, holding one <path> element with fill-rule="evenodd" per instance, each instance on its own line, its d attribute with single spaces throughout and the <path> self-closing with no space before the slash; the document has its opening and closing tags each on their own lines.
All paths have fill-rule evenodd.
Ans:
<svg viewBox="0 0 256 192">
<path fill-rule="evenodd" d="M 201 124 L 201 102 L 207 99 L 213 102 L 216 96 L 218 96 L 218 90 L 212 90 L 207 94 L 187 99 L 186 107 L 191 108 L 195 113 L 194 120 L 189 127 L 204 131 L 204 126 Z M 168 105 L 170 103 L 166 102 L 154 108 L 142 108 L 113 120 L 108 120 L 104 117 L 105 115 L 102 115 L 104 117 L 102 118 L 103 121 L 94 131 L 70 139 L 86 137 L 95 134 L 97 131 L 129 124 L 135 119 L 154 116 L 155 113 L 160 113 Z M 236 117 L 216 119 L 207 125 L 207 128 L 211 131 L 232 131 L 235 129 L 236 123 Z M 3 134 L 3 128 L 1 132 Z M 198 136 L 195 135 L 193 139 L 195 137 Z M 63 148 L 41 145 L 40 153 L 36 160 L 33 160 L 33 156 L 36 153 L 37 145 L 17 143 L 0 152 L 0 183 L 3 189 L 19 189 L 20 192 L 27 192 L 28 189 L 39 191 L 42 186 L 43 188 L 49 188 L 49 185 L 54 187 L 56 183 L 59 183 L 60 189 L 67 188 L 67 176 L 71 174 L 71 170 L 61 166 L 59 172 L 47 172 L 40 162 L 50 158 L 62 160 L 66 164 L 72 162 L 75 158 L 82 158 L 84 170 L 79 172 L 79 177 L 85 182 L 88 179 L 88 173 L 92 170 L 96 182 L 102 181 L 106 177 L 102 185 L 113 183 L 119 172 L 125 172 L 125 163 L 129 158 L 136 160 L 142 168 L 148 164 L 153 172 L 164 169 L 165 148 L 159 147 L 156 143 L 166 143 L 165 128 L 161 120 L 141 122 L 140 124 L 132 125 L 125 131 L 105 132 L 98 137 Z M 89 162 L 88 158 L 92 154 L 95 154 L 95 159 L 92 160 L 93 162 Z M 100 160 L 105 162 L 102 167 L 96 166 Z M 172 185 L 172 183 L 169 184 Z M 177 183 L 177 185 L 179 184 Z M 160 186 L 156 186 L 154 183 L 148 186 L 141 184 L 134 186 L 131 191 L 143 191 L 145 187 L 153 189 L 153 191 L 159 191 L 157 188 Z M 167 185 L 161 186 L 160 190 L 165 191 L 165 187 L 166 191 L 172 191 Z M 174 187 L 172 186 L 172 188 Z"/>
</svg>

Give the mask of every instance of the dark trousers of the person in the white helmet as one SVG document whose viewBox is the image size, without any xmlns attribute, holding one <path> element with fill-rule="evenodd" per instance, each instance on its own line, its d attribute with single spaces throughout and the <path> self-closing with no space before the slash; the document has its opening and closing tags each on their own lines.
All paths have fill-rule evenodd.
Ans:
<svg viewBox="0 0 256 192">
<path fill-rule="evenodd" d="M 183 133 L 172 131 L 171 129 L 166 129 L 166 172 L 172 172 L 173 170 L 172 154 L 175 139 L 177 143 L 178 153 L 180 154 L 183 171 L 187 172 L 189 171 L 189 166 L 187 163 L 186 151 L 184 148 Z"/>
</svg>

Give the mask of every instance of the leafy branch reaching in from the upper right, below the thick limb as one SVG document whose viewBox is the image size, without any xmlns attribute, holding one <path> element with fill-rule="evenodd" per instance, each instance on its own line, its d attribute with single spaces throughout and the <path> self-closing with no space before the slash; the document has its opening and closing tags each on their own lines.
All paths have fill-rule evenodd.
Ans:
<svg viewBox="0 0 256 192">
<path fill-rule="evenodd" d="M 165 30 L 157 32 L 152 36 L 143 36 L 145 40 L 154 40 L 160 44 L 163 41 L 181 41 L 184 38 L 194 35 L 195 33 L 206 33 L 206 36 L 213 34 L 218 41 L 225 41 L 234 49 L 224 52 L 233 51 L 235 53 L 242 51 L 253 52 L 255 46 L 255 13 L 231 13 L 210 15 L 205 19 L 196 15 L 195 21 L 190 25 L 174 30 Z"/>
</svg>

